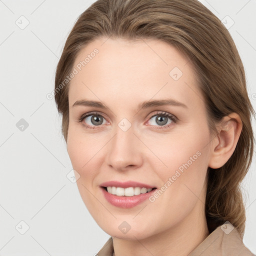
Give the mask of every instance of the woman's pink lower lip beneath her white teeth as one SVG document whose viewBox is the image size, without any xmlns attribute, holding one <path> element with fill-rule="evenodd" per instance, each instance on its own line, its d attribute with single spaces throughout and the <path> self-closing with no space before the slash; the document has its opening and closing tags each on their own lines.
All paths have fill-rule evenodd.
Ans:
<svg viewBox="0 0 256 256">
<path fill-rule="evenodd" d="M 149 196 L 151 196 L 156 189 L 152 189 L 150 192 L 133 195 L 133 196 L 119 196 L 115 194 L 108 193 L 103 187 L 100 187 L 106 200 L 114 206 L 120 208 L 131 208 L 139 203 L 145 201 Z"/>
</svg>

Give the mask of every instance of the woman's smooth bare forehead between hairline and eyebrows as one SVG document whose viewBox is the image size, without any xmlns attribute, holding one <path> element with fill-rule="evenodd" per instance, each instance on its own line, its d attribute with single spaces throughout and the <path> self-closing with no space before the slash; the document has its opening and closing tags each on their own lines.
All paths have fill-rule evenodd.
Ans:
<svg viewBox="0 0 256 256">
<path fill-rule="evenodd" d="M 174 46 L 156 39 L 99 38 L 76 56 L 69 106 L 89 98 L 128 102 L 172 97 L 199 104 L 192 63 Z"/>
</svg>

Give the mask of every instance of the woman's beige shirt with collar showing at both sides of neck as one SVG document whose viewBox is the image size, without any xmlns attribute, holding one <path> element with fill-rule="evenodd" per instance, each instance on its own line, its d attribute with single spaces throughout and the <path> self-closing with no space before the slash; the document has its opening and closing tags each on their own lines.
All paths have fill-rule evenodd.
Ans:
<svg viewBox="0 0 256 256">
<path fill-rule="evenodd" d="M 113 251 L 113 240 L 110 236 L 96 256 L 112 256 Z M 188 256 L 255 256 L 255 254 L 245 247 L 238 231 L 232 225 L 223 224 L 212 231 Z"/>
</svg>

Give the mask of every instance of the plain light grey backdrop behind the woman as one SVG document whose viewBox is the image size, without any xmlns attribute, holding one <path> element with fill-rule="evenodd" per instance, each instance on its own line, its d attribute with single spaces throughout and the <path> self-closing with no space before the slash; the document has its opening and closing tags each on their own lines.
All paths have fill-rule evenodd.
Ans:
<svg viewBox="0 0 256 256">
<path fill-rule="evenodd" d="M 72 166 L 60 132 L 61 119 L 54 99 L 46 98 L 54 89 L 54 72 L 68 32 L 92 2 L 0 0 L 2 256 L 94 255 L 109 237 L 88 213 L 76 184 L 66 176 Z M 248 94 L 256 109 L 256 1 L 201 2 L 228 27 L 234 22 L 229 31 L 242 58 Z M 24 28 L 26 22 L 29 24 Z M 255 127 L 255 120 L 253 123 Z M 253 253 L 255 184 L 254 156 L 243 181 L 247 215 L 243 242 Z"/>
</svg>

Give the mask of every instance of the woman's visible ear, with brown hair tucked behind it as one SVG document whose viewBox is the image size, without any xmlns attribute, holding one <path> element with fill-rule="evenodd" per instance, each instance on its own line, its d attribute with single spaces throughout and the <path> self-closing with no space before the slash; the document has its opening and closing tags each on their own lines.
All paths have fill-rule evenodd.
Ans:
<svg viewBox="0 0 256 256">
<path fill-rule="evenodd" d="M 237 113 L 224 116 L 217 125 L 218 133 L 211 141 L 208 166 L 216 169 L 223 166 L 232 155 L 242 130 L 242 121 Z"/>
</svg>

